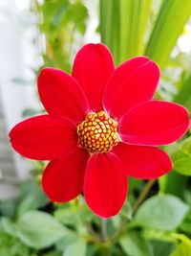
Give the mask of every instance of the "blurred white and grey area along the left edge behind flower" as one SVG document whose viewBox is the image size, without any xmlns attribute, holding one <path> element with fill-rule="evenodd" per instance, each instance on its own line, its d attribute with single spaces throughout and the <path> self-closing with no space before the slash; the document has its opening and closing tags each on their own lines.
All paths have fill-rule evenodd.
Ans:
<svg viewBox="0 0 191 256">
<path fill-rule="evenodd" d="M 8 134 L 26 108 L 38 106 L 32 72 L 41 62 L 33 43 L 36 33 L 30 1 L 0 0 L 0 199 L 11 197 L 13 184 L 31 169 L 29 161 L 11 150 Z"/>
</svg>

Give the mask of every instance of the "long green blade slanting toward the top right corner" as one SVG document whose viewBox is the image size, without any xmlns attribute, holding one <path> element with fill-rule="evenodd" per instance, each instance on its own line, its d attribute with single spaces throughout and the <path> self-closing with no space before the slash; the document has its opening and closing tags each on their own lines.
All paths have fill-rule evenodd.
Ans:
<svg viewBox="0 0 191 256">
<path fill-rule="evenodd" d="M 190 14 L 190 0 L 162 2 L 145 51 L 145 55 L 156 60 L 161 68 L 168 60 Z"/>
</svg>

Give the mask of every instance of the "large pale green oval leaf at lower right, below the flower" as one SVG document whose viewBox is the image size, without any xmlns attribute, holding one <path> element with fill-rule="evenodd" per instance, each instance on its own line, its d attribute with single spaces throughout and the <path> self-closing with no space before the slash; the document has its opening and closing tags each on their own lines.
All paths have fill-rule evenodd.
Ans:
<svg viewBox="0 0 191 256">
<path fill-rule="evenodd" d="M 188 206 L 180 198 L 159 195 L 140 205 L 135 222 L 145 227 L 173 230 L 180 225 L 187 211 Z"/>
</svg>

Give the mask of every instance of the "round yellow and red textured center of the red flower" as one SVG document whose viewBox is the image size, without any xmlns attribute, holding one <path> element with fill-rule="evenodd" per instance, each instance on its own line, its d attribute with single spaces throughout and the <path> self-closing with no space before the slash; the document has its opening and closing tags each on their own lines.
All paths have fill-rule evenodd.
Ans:
<svg viewBox="0 0 191 256">
<path fill-rule="evenodd" d="M 117 122 L 104 111 L 87 114 L 77 127 L 78 146 L 94 152 L 108 152 L 117 146 Z"/>
</svg>

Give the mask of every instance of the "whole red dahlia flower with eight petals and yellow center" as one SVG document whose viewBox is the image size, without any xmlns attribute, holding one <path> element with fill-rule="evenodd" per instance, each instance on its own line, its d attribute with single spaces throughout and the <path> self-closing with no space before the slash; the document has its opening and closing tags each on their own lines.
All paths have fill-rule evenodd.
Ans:
<svg viewBox="0 0 191 256">
<path fill-rule="evenodd" d="M 102 44 L 87 44 L 74 59 L 73 75 L 44 68 L 38 78 L 40 99 L 48 115 L 12 128 L 15 151 L 51 160 L 42 186 L 56 202 L 81 192 L 104 218 L 121 209 L 127 176 L 157 178 L 172 169 L 166 152 L 188 128 L 187 110 L 152 100 L 159 67 L 146 57 L 132 58 L 115 69 Z"/>
</svg>

